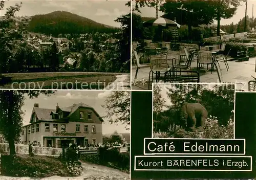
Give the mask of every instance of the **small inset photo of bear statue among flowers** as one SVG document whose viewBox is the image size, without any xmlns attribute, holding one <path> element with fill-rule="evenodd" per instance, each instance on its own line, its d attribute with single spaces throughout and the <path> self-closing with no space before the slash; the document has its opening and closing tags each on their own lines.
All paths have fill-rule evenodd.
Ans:
<svg viewBox="0 0 256 180">
<path fill-rule="evenodd" d="M 235 86 L 153 83 L 153 138 L 234 139 Z"/>
</svg>

